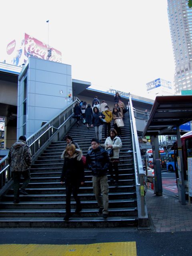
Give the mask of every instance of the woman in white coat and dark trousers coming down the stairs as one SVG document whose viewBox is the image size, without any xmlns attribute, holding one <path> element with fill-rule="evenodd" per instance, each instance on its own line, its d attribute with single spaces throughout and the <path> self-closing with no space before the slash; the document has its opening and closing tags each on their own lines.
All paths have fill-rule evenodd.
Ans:
<svg viewBox="0 0 192 256">
<path fill-rule="evenodd" d="M 113 168 L 115 172 L 115 185 L 118 185 L 118 163 L 119 163 L 119 150 L 122 148 L 121 139 L 117 136 L 117 132 L 115 129 L 111 129 L 109 131 L 109 136 L 105 141 L 106 150 L 109 150 L 110 153 L 112 150 L 112 155 L 110 156 L 110 164 L 109 164 L 109 174 L 111 176 L 111 181 L 114 182 Z"/>
</svg>

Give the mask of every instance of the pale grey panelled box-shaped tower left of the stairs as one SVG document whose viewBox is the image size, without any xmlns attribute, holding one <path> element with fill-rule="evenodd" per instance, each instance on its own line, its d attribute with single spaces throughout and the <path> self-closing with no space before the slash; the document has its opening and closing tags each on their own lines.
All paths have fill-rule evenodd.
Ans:
<svg viewBox="0 0 192 256">
<path fill-rule="evenodd" d="M 23 132 L 24 79 L 27 76 L 26 134 Z M 18 84 L 18 132 L 17 136 L 29 137 L 61 112 L 71 101 L 71 66 L 38 58 L 29 58 L 28 69 L 19 76 Z"/>
</svg>

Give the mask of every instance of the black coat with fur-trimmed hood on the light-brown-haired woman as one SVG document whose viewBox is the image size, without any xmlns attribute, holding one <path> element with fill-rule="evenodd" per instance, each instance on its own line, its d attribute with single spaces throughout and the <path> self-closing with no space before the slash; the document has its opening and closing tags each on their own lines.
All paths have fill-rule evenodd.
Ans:
<svg viewBox="0 0 192 256">
<path fill-rule="evenodd" d="M 84 182 L 84 165 L 82 162 L 82 151 L 79 149 L 75 150 L 74 155 L 70 158 L 66 150 L 61 155 L 64 159 L 61 181 L 66 184 L 75 183 L 79 184 Z"/>
</svg>

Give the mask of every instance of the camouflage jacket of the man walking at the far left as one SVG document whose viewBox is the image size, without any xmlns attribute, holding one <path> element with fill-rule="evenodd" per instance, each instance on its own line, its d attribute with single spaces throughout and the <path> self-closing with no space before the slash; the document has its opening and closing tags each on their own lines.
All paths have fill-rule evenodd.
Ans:
<svg viewBox="0 0 192 256">
<path fill-rule="evenodd" d="M 18 140 L 9 150 L 8 162 L 12 172 L 24 172 L 29 170 L 32 161 L 32 154 L 29 146 Z"/>
</svg>

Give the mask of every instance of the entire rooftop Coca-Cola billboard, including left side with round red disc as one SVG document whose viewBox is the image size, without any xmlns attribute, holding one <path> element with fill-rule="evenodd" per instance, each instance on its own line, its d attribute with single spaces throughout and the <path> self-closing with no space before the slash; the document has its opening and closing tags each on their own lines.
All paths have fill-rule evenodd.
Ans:
<svg viewBox="0 0 192 256">
<path fill-rule="evenodd" d="M 51 60 L 54 62 L 62 62 L 61 52 L 55 48 L 49 47 L 36 38 L 24 34 L 12 40 L 6 48 L 6 63 L 21 66 L 27 62 L 29 57 L 40 58 L 42 60 Z"/>
</svg>

